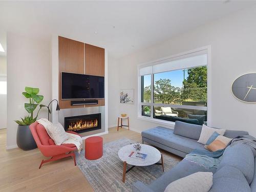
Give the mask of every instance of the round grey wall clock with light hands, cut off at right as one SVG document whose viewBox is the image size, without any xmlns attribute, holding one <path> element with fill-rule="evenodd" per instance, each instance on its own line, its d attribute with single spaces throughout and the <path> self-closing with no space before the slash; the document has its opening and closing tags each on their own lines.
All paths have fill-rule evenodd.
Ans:
<svg viewBox="0 0 256 192">
<path fill-rule="evenodd" d="M 232 84 L 232 94 L 243 102 L 256 103 L 256 73 L 238 77 Z"/>
</svg>

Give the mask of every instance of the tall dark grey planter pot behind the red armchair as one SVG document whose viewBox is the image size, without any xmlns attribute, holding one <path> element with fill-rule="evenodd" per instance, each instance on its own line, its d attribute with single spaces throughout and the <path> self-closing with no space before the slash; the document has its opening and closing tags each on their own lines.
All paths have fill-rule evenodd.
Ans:
<svg viewBox="0 0 256 192">
<path fill-rule="evenodd" d="M 17 129 L 17 145 L 24 151 L 37 148 L 35 140 L 29 129 L 29 125 L 18 125 Z"/>
</svg>

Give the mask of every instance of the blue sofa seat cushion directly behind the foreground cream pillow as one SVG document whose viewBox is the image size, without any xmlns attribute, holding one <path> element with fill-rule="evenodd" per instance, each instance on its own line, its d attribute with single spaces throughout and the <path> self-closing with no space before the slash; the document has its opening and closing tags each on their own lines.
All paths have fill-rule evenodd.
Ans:
<svg viewBox="0 0 256 192">
<path fill-rule="evenodd" d="M 168 184 L 180 178 L 186 177 L 197 172 L 211 172 L 214 174 L 216 170 L 217 168 L 212 167 L 206 169 L 203 166 L 183 159 L 176 166 L 165 172 L 157 180 L 153 181 L 150 185 L 148 185 L 148 187 L 151 188 L 153 191 L 163 192 Z"/>
</svg>

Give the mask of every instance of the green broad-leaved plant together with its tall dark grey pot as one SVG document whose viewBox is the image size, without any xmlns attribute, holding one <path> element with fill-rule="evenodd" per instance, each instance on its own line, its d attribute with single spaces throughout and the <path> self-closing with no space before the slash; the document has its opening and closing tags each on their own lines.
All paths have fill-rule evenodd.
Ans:
<svg viewBox="0 0 256 192">
<path fill-rule="evenodd" d="M 29 113 L 28 116 L 25 116 L 24 118 L 21 118 L 22 120 L 15 120 L 15 122 L 18 124 L 17 129 L 17 145 L 19 148 L 22 148 L 22 150 L 33 150 L 36 148 L 35 140 L 31 134 L 31 131 L 29 129 L 29 125 L 36 121 L 37 116 L 41 108 L 45 107 L 46 105 L 39 104 L 42 99 L 44 99 L 44 96 L 38 95 L 39 89 L 38 88 L 30 88 L 25 87 L 25 91 L 22 94 L 29 99 L 29 103 L 25 103 L 25 109 Z M 33 112 L 39 105 L 39 109 L 37 111 L 36 116 L 33 116 Z"/>
</svg>

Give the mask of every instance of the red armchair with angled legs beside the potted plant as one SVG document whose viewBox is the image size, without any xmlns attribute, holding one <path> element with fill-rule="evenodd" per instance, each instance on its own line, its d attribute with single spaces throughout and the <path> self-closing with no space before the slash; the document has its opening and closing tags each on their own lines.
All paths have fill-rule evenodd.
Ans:
<svg viewBox="0 0 256 192">
<path fill-rule="evenodd" d="M 45 127 L 37 122 L 32 123 L 29 126 L 29 129 L 42 155 L 46 157 L 51 157 L 50 159 L 42 160 L 39 168 L 41 168 L 42 164 L 44 163 L 47 163 L 50 161 L 56 161 L 58 159 L 62 159 L 66 157 L 73 157 L 74 164 L 76 166 L 76 157 L 74 152 L 77 150 L 77 148 L 74 144 L 55 145 L 54 141 L 50 138 L 50 136 L 46 132 Z M 67 133 L 78 135 L 75 132 L 67 132 Z"/>
</svg>

